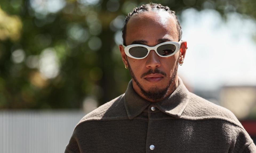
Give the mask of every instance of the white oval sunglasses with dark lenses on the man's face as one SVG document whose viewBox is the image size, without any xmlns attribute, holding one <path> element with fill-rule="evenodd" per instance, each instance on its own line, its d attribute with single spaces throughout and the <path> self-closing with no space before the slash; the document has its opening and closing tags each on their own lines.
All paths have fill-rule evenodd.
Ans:
<svg viewBox="0 0 256 153">
<path fill-rule="evenodd" d="M 150 47 L 147 45 L 133 44 L 124 46 L 125 54 L 134 59 L 143 59 L 149 55 L 150 50 L 155 50 L 155 53 L 161 57 L 170 57 L 178 52 L 181 46 L 181 40 L 177 43 L 174 41 L 168 41 L 156 46 Z"/>
</svg>

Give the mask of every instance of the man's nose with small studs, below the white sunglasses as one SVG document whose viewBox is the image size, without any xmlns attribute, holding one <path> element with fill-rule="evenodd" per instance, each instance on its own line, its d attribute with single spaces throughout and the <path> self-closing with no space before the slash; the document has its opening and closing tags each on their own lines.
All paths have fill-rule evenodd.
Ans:
<svg viewBox="0 0 256 153">
<path fill-rule="evenodd" d="M 155 67 L 161 66 L 160 56 L 155 53 L 155 50 L 150 50 L 146 60 L 146 67 L 149 69 L 154 69 Z"/>
</svg>

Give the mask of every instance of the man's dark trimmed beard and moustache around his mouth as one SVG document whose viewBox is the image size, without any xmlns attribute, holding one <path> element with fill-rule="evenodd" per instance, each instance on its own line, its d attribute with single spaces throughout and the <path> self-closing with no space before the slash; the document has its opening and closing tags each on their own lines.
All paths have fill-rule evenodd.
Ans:
<svg viewBox="0 0 256 153">
<path fill-rule="evenodd" d="M 137 78 L 135 77 L 135 75 L 133 73 L 133 70 L 130 67 L 130 64 L 129 64 L 128 60 L 127 60 L 127 64 L 128 64 L 128 68 L 129 68 L 131 77 L 133 78 L 133 80 L 135 81 L 137 86 L 139 87 L 142 95 L 144 95 L 145 97 L 147 97 L 150 100 L 157 101 L 157 100 L 160 100 L 163 97 L 165 97 L 167 95 L 168 91 L 170 91 L 170 86 L 173 83 L 173 81 L 175 80 L 176 75 L 177 75 L 179 60 L 177 60 L 177 62 L 176 62 L 173 74 L 172 74 L 172 76 L 171 76 L 171 78 L 169 80 L 169 84 L 167 84 L 167 86 L 165 88 L 163 88 L 163 89 L 160 89 L 158 87 L 151 87 L 148 91 L 146 91 L 143 88 L 143 86 L 138 82 Z M 146 75 L 149 75 L 149 74 L 162 74 L 162 75 L 167 77 L 167 75 L 164 72 L 162 72 L 162 71 L 158 70 L 157 68 L 155 68 L 154 70 L 150 69 L 146 73 L 142 74 L 141 78 L 143 78 L 143 77 L 145 77 Z"/>
</svg>

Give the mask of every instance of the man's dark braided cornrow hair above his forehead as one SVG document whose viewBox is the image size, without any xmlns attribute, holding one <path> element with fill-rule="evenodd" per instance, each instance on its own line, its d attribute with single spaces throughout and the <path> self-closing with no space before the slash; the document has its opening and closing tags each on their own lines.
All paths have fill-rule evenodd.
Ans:
<svg viewBox="0 0 256 153">
<path fill-rule="evenodd" d="M 161 10 L 164 9 L 165 11 L 169 12 L 171 15 L 173 15 L 175 22 L 176 22 L 176 28 L 178 31 L 178 41 L 181 40 L 181 36 L 182 36 L 182 31 L 181 31 L 181 25 L 179 24 L 178 18 L 175 15 L 175 11 L 170 10 L 170 8 L 168 6 L 163 6 L 161 4 L 156 4 L 156 3 L 147 3 L 146 5 L 141 5 L 140 7 L 136 7 L 133 9 L 132 12 L 128 13 L 128 15 L 126 16 L 125 19 L 125 23 L 123 26 L 123 30 L 122 30 L 122 38 L 123 38 L 123 45 L 126 46 L 126 42 L 125 42 L 125 36 L 126 36 L 126 27 L 127 27 L 127 22 L 129 21 L 129 19 L 131 18 L 131 16 L 133 16 L 134 14 L 139 14 L 142 12 L 147 12 L 147 11 L 154 11 L 154 10 Z"/>
</svg>

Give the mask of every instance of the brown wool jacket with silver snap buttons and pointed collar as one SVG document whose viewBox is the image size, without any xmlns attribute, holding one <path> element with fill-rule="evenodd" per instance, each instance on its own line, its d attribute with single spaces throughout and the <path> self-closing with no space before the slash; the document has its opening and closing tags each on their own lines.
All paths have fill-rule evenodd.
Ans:
<svg viewBox="0 0 256 153">
<path fill-rule="evenodd" d="M 256 152 L 232 112 L 187 90 L 178 79 L 167 98 L 151 103 L 129 82 L 125 94 L 84 116 L 65 153 Z"/>
</svg>

